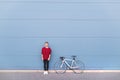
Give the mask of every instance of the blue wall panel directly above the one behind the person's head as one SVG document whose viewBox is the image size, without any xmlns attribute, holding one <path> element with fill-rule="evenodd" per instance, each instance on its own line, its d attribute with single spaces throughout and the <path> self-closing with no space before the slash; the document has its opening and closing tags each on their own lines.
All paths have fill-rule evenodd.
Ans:
<svg viewBox="0 0 120 80">
<path fill-rule="evenodd" d="M 119 21 L 0 21 L 1 36 L 120 36 Z M 7 23 L 7 24 L 6 24 Z M 31 24 L 30 24 L 31 23 Z M 9 26 L 12 25 L 12 26 Z M 0 37 L 2 38 L 2 37 Z"/>
</svg>

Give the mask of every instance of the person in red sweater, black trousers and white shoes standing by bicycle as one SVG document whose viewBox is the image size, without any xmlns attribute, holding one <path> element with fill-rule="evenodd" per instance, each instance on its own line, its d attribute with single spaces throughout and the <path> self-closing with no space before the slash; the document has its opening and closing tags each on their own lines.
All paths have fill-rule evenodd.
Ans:
<svg viewBox="0 0 120 80">
<path fill-rule="evenodd" d="M 49 43 L 45 42 L 44 47 L 42 48 L 42 60 L 44 63 L 44 75 L 48 74 L 50 57 L 51 57 L 51 48 L 49 47 Z"/>
</svg>

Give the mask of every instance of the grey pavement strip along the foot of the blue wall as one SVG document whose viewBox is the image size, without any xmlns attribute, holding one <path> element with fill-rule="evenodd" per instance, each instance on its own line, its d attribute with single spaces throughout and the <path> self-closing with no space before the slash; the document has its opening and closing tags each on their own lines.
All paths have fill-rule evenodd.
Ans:
<svg viewBox="0 0 120 80">
<path fill-rule="evenodd" d="M 0 80 L 120 80 L 120 73 L 49 73 L 49 75 L 43 75 L 41 72 L 1 72 Z"/>
</svg>

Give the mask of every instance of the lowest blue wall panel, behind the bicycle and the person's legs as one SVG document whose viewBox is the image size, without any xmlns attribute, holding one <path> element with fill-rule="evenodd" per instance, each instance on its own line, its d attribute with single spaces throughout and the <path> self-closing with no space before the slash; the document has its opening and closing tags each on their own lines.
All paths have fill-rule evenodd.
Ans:
<svg viewBox="0 0 120 80">
<path fill-rule="evenodd" d="M 81 56 L 78 59 L 86 63 L 87 69 L 119 69 L 120 56 Z M 43 62 L 38 56 L 1 56 L 1 69 L 43 69 Z M 70 56 L 68 56 L 70 58 Z M 105 59 L 106 58 L 106 59 Z M 115 58 L 113 60 L 113 58 Z M 52 58 L 50 69 L 54 69 L 58 57 Z M 3 63 L 4 61 L 4 63 Z M 96 63 L 97 62 L 97 63 Z M 112 64 L 111 64 L 112 63 Z"/>
</svg>

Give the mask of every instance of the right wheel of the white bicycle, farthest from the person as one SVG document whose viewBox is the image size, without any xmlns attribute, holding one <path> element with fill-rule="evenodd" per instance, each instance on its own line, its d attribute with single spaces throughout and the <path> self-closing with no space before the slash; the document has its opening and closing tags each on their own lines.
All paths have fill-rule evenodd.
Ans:
<svg viewBox="0 0 120 80">
<path fill-rule="evenodd" d="M 72 67 L 73 72 L 76 74 L 83 73 L 85 70 L 85 64 L 80 60 L 75 60 Z"/>
</svg>

